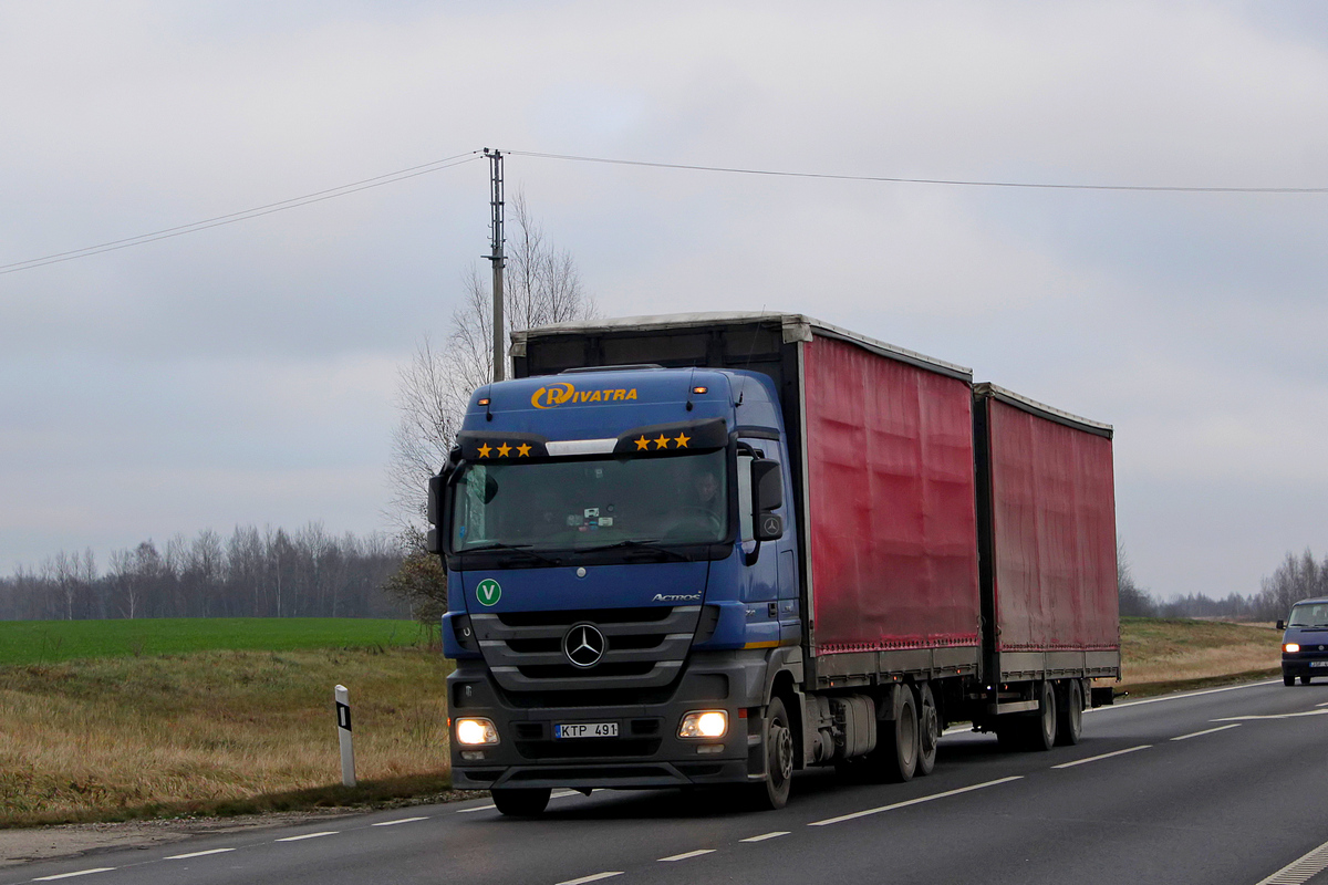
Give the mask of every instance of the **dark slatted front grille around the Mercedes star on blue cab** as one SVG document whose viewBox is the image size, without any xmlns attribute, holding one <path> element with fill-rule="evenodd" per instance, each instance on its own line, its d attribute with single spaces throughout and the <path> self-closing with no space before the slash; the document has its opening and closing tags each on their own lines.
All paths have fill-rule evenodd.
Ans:
<svg viewBox="0 0 1328 885">
<path fill-rule="evenodd" d="M 481 613 L 471 626 L 506 693 L 660 689 L 681 671 L 700 613 L 700 605 Z M 590 667 L 572 666 L 563 651 L 563 637 L 579 624 L 604 637 Z"/>
</svg>

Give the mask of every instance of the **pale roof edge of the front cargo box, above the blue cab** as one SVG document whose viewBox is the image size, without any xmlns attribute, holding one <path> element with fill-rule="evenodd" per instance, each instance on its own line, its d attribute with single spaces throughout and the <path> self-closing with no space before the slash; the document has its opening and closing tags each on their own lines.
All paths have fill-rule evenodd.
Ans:
<svg viewBox="0 0 1328 885">
<path fill-rule="evenodd" d="M 522 329 L 511 333 L 511 353 L 521 357 L 526 354 L 526 342 L 531 338 L 556 337 L 562 334 L 606 334 L 615 332 L 655 332 L 663 329 L 692 329 L 713 328 L 717 325 L 748 325 L 748 324 L 780 324 L 784 342 L 810 341 L 813 332 L 827 338 L 838 338 L 855 344 L 859 348 L 871 350 L 880 356 L 908 362 L 923 369 L 931 369 L 942 374 L 961 378 L 972 382 L 973 370 L 954 362 L 928 357 L 908 350 L 898 345 L 886 344 L 870 338 L 857 332 L 849 332 L 837 325 L 822 322 L 801 313 L 778 312 L 703 312 L 703 313 L 667 313 L 643 317 L 612 317 L 608 320 L 590 320 L 582 322 L 555 322 L 534 329 Z"/>
</svg>

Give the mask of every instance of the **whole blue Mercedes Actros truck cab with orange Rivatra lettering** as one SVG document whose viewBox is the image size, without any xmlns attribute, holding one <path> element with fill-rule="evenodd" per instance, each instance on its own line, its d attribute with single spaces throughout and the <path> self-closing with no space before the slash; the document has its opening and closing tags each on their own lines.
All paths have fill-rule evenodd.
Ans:
<svg viewBox="0 0 1328 885">
<path fill-rule="evenodd" d="M 770 378 L 655 365 L 477 390 L 429 486 L 448 568 L 453 784 L 761 784 L 801 667 L 795 508 Z M 602 740 L 600 738 L 615 738 Z"/>
</svg>

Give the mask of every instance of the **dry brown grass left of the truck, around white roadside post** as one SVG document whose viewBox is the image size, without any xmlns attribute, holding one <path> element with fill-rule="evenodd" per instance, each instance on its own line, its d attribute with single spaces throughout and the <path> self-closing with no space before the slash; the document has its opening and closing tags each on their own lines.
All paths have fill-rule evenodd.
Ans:
<svg viewBox="0 0 1328 885">
<path fill-rule="evenodd" d="M 446 783 L 448 662 L 388 651 L 203 651 L 0 669 L 0 825 L 215 809 L 340 783 L 332 687 L 356 771 Z"/>
</svg>

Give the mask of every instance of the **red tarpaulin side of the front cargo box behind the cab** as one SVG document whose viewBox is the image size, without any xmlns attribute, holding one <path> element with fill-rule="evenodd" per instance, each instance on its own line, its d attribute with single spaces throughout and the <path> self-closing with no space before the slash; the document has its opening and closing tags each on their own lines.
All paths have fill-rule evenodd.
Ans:
<svg viewBox="0 0 1328 885">
<path fill-rule="evenodd" d="M 818 654 L 977 645 L 968 383 L 803 345 Z"/>
</svg>

